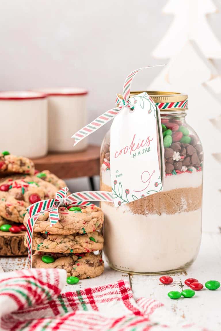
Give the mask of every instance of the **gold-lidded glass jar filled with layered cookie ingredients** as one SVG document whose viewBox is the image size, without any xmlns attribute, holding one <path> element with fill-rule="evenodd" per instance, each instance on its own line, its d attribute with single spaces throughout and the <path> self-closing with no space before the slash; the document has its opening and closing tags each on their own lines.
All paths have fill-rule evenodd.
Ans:
<svg viewBox="0 0 221 331">
<path fill-rule="evenodd" d="M 177 106 L 187 99 L 181 93 L 147 93 L 159 108 L 160 103 L 176 102 Z M 186 122 L 186 110 L 160 109 L 162 129 L 172 130 L 173 138 L 171 146 L 164 147 L 163 191 L 120 207 L 100 204 L 105 215 L 104 253 L 113 269 L 140 274 L 177 272 L 191 265 L 198 254 L 203 152 L 196 132 Z M 111 192 L 110 166 L 109 131 L 101 146 L 101 191 Z"/>
</svg>

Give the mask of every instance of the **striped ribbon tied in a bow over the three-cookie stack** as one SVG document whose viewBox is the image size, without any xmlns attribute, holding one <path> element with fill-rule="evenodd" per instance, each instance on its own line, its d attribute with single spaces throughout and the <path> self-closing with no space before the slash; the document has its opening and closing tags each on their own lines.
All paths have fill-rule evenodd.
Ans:
<svg viewBox="0 0 221 331">
<path fill-rule="evenodd" d="M 50 226 L 59 221 L 58 208 L 62 206 L 94 206 L 89 201 L 109 201 L 113 202 L 111 192 L 105 191 L 85 191 L 72 193 L 67 197 L 68 187 L 64 187 L 56 193 L 55 199 L 38 201 L 27 208 L 27 244 L 28 244 L 28 263 L 31 268 L 31 245 L 33 228 L 38 217 L 49 212 Z"/>
</svg>

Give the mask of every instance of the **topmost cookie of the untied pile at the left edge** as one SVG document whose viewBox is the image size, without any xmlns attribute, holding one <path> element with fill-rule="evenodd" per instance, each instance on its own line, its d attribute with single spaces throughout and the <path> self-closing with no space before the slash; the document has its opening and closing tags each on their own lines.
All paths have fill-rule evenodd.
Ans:
<svg viewBox="0 0 221 331">
<path fill-rule="evenodd" d="M 34 174 L 33 162 L 23 156 L 11 155 L 8 151 L 0 154 L 0 176 L 13 173 Z"/>
</svg>

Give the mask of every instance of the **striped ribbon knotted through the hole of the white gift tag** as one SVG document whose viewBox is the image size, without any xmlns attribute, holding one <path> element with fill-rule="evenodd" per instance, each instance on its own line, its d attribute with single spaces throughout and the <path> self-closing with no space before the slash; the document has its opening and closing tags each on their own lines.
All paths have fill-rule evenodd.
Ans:
<svg viewBox="0 0 221 331">
<path fill-rule="evenodd" d="M 117 116 L 123 107 L 130 108 L 131 105 L 128 102 L 130 98 L 130 92 L 131 92 L 131 84 L 133 82 L 134 77 L 136 74 L 146 68 L 154 68 L 154 67 L 160 67 L 164 65 L 156 65 L 156 66 L 149 66 L 149 67 L 143 67 L 140 69 L 137 69 L 135 71 L 132 71 L 127 78 L 125 79 L 124 86 L 123 86 L 123 100 L 119 99 L 118 97 L 115 100 L 115 103 L 118 105 L 118 107 L 108 110 L 107 112 L 103 113 L 102 115 L 98 116 L 96 119 L 94 119 L 91 123 L 84 126 L 81 130 L 76 132 L 72 138 L 74 138 L 74 145 L 76 146 L 81 140 L 89 136 L 89 134 L 95 132 L 98 130 L 101 126 L 108 123 L 111 119 L 113 119 L 115 116 Z"/>
</svg>

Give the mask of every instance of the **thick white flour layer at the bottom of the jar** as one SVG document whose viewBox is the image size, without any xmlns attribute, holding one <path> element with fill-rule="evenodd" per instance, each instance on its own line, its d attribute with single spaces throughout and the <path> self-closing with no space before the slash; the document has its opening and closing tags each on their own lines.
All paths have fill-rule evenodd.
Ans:
<svg viewBox="0 0 221 331">
<path fill-rule="evenodd" d="M 105 214 L 104 252 L 114 267 L 153 273 L 180 269 L 196 258 L 201 208 L 146 216 L 131 213 L 126 205 L 115 208 L 102 202 L 101 208 Z"/>
</svg>

